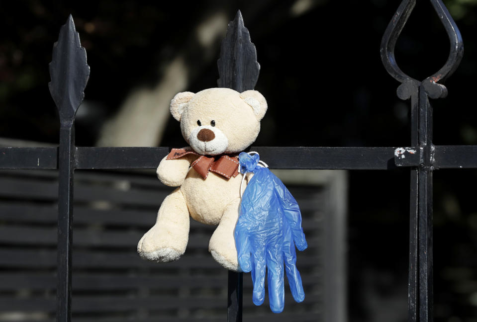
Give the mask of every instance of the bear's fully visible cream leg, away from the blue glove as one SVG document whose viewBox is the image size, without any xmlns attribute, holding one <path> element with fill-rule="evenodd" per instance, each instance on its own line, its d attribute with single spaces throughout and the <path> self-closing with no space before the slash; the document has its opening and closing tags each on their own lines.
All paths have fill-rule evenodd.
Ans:
<svg viewBox="0 0 477 322">
<path fill-rule="evenodd" d="M 137 252 L 144 259 L 168 262 L 179 259 L 189 240 L 189 210 L 180 188 L 164 199 L 156 224 L 141 238 Z"/>
</svg>

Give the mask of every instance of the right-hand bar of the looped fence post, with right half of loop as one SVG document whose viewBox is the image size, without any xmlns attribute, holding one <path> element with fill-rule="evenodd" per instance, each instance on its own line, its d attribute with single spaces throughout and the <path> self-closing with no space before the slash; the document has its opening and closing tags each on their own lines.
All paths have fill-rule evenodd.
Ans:
<svg viewBox="0 0 477 322">
<path fill-rule="evenodd" d="M 447 88 L 438 83 L 451 76 L 464 54 L 462 36 L 455 21 L 441 0 L 430 0 L 449 37 L 449 57 L 439 71 L 423 80 L 419 86 L 419 148 L 422 154 L 418 167 L 419 208 L 419 322 L 431 322 L 433 318 L 433 234 L 432 234 L 432 171 L 434 146 L 432 144 L 433 99 L 447 96 Z"/>
</svg>

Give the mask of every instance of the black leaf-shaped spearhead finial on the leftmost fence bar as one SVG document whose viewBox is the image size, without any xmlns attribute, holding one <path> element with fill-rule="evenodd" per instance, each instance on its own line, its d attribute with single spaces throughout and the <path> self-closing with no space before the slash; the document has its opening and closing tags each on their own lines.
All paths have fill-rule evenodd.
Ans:
<svg viewBox="0 0 477 322">
<path fill-rule="evenodd" d="M 58 107 L 60 122 L 72 124 L 85 97 L 90 67 L 71 14 L 60 29 L 58 41 L 53 44 L 53 57 L 49 67 L 51 81 L 48 87 Z"/>
</svg>

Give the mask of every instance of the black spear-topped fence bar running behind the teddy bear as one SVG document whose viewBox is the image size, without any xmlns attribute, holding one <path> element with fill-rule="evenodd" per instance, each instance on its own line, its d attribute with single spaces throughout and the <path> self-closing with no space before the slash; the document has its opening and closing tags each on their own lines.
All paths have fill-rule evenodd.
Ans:
<svg viewBox="0 0 477 322">
<path fill-rule="evenodd" d="M 253 89 L 257 83 L 260 73 L 257 51 L 244 26 L 240 10 L 228 25 L 217 67 L 220 77 L 217 80 L 218 87 L 242 92 Z M 242 322 L 243 273 L 229 271 L 227 285 L 227 321 Z"/>
</svg>

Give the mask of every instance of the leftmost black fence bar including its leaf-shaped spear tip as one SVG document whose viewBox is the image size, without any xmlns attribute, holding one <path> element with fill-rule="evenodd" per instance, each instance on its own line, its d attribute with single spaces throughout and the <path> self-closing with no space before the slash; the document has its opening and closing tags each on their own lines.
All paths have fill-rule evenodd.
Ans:
<svg viewBox="0 0 477 322">
<path fill-rule="evenodd" d="M 76 165 L 74 121 L 85 96 L 90 76 L 86 51 L 70 15 L 60 29 L 53 45 L 50 63 L 50 93 L 60 115 L 60 146 L 58 154 L 58 322 L 71 321 L 71 280 L 73 244 L 73 174 Z"/>
</svg>

